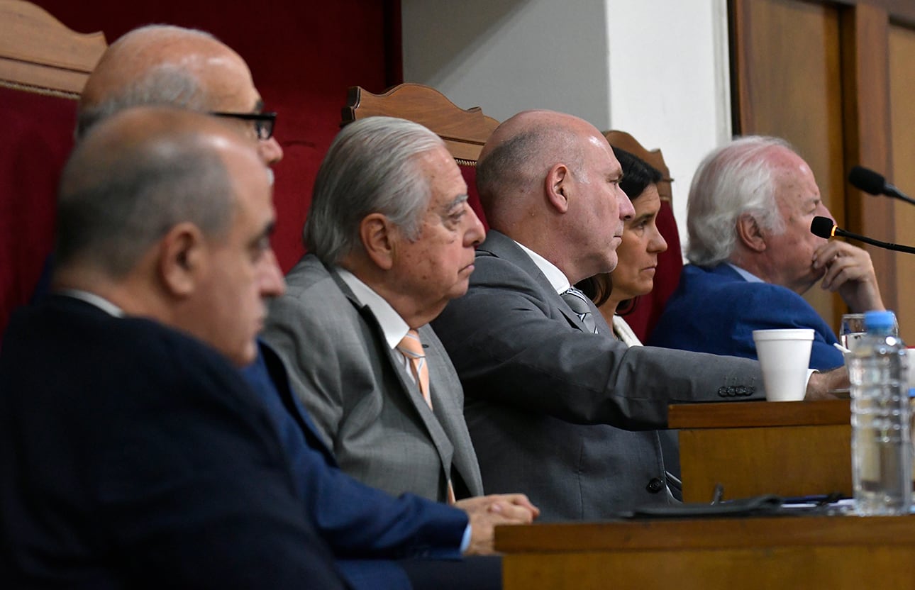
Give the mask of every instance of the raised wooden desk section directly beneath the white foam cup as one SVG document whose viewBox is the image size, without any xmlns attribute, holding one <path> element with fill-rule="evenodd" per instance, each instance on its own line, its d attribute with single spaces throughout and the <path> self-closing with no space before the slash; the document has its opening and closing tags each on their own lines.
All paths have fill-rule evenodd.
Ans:
<svg viewBox="0 0 915 590">
<path fill-rule="evenodd" d="M 848 400 L 672 405 L 684 501 L 852 493 Z"/>
</svg>

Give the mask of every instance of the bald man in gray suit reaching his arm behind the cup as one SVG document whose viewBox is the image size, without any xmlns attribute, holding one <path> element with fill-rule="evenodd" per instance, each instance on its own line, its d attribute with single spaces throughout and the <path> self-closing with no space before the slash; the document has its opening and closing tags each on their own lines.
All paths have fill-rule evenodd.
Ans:
<svg viewBox="0 0 915 590">
<path fill-rule="evenodd" d="M 480 154 L 490 233 L 468 294 L 433 322 L 468 396 L 489 493 L 521 488 L 544 520 L 601 519 L 673 503 L 655 429 L 673 402 L 761 399 L 759 363 L 628 347 L 571 284 L 617 263 L 632 205 L 594 125 L 519 113 Z M 808 397 L 844 370 L 815 373 Z"/>
</svg>

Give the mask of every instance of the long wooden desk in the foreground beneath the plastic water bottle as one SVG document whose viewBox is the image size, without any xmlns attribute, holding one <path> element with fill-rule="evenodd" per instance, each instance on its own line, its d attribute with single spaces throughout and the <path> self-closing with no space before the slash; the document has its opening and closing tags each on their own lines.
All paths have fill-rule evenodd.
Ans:
<svg viewBox="0 0 915 590">
<path fill-rule="evenodd" d="M 915 585 L 915 516 L 503 526 L 496 549 L 505 590 Z"/>
</svg>

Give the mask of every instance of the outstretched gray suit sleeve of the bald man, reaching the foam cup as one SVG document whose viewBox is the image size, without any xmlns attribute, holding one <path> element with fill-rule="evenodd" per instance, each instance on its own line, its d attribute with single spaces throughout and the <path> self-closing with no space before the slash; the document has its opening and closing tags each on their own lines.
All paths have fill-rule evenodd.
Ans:
<svg viewBox="0 0 915 590">
<path fill-rule="evenodd" d="M 433 322 L 468 399 L 637 430 L 666 427 L 669 403 L 762 394 L 757 362 L 628 348 L 573 326 L 563 305 L 518 264 L 478 252 L 468 294 Z"/>
</svg>

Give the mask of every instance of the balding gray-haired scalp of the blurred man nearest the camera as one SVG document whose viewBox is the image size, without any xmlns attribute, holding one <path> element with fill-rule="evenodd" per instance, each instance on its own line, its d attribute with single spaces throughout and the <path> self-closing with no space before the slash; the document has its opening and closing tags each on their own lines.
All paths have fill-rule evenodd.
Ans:
<svg viewBox="0 0 915 590">
<path fill-rule="evenodd" d="M 60 179 L 58 266 L 89 263 L 123 278 L 180 222 L 216 238 L 229 231 L 229 172 L 199 131 L 184 131 L 182 123 L 122 141 L 92 141 L 93 130 L 77 145 Z"/>
</svg>

